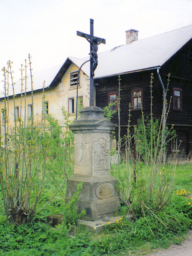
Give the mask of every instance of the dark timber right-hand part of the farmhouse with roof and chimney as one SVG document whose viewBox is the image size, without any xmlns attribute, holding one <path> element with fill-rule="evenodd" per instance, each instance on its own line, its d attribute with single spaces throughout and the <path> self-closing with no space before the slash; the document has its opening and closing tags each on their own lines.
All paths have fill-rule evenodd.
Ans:
<svg viewBox="0 0 192 256">
<path fill-rule="evenodd" d="M 137 120 L 141 119 L 141 107 L 145 115 L 150 115 L 151 73 L 154 76 L 153 116 L 161 119 L 163 87 L 167 87 L 170 73 L 166 99 L 172 102 L 166 125 L 170 128 L 174 124 L 177 138 L 167 146 L 167 154 L 179 151 L 180 157 L 186 157 L 191 153 L 192 142 L 192 26 L 138 41 L 137 31 L 127 31 L 127 34 L 129 39 L 131 35 L 136 35 L 131 44 L 127 41 L 126 45 L 99 55 L 95 78 L 96 105 L 103 108 L 114 101 L 120 74 L 120 125 L 123 136 L 128 126 L 129 103 L 132 106 L 131 125 L 137 125 Z M 107 63 L 109 67 L 104 72 L 102 67 Z M 118 123 L 117 114 L 112 122 Z"/>
</svg>

